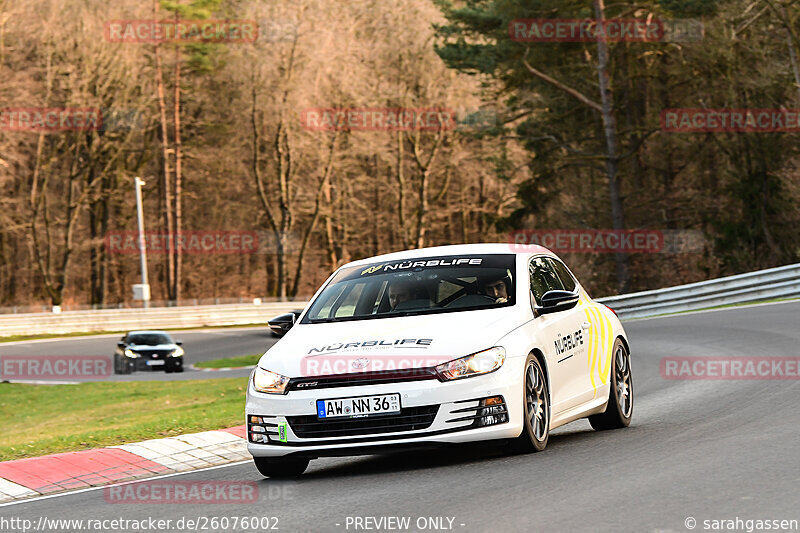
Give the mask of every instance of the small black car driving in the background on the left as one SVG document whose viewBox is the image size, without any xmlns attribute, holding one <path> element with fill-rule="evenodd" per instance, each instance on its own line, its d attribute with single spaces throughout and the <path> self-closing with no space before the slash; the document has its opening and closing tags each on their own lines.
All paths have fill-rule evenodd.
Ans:
<svg viewBox="0 0 800 533">
<path fill-rule="evenodd" d="M 136 370 L 183 372 L 183 348 L 165 331 L 131 331 L 117 343 L 114 373 Z"/>
</svg>

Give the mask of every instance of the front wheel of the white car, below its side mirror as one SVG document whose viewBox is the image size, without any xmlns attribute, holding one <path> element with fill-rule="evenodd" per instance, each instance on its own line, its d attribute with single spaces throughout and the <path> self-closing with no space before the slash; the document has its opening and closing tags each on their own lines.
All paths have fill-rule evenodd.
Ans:
<svg viewBox="0 0 800 533">
<path fill-rule="evenodd" d="M 523 427 L 511 442 L 515 453 L 541 452 L 550 438 L 550 390 L 539 360 L 528 355 L 522 374 Z"/>
</svg>

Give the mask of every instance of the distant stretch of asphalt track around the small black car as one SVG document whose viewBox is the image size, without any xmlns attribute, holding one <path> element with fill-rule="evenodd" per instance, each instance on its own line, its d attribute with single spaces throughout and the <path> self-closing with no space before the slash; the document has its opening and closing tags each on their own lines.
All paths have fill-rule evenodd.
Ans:
<svg viewBox="0 0 800 533">
<path fill-rule="evenodd" d="M 266 326 L 170 331 L 169 334 L 173 339 L 183 341 L 183 349 L 186 351 L 186 355 L 184 355 L 185 365 L 238 355 L 264 353 L 278 340 L 272 336 Z M 105 355 L 108 356 L 108 360 L 111 362 L 120 337 L 122 335 L 115 334 L 0 343 L 0 357 L 4 355 Z M 247 377 L 249 374 L 249 370 L 200 372 L 187 367 L 184 372 L 178 374 L 166 374 L 161 370 L 138 371 L 130 375 L 111 375 L 107 380 L 212 379 Z"/>
</svg>

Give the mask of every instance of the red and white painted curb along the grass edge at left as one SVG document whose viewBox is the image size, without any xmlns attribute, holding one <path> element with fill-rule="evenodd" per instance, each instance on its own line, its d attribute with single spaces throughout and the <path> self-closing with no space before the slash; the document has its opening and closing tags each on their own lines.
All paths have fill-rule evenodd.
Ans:
<svg viewBox="0 0 800 533">
<path fill-rule="evenodd" d="M 0 503 L 250 458 L 245 426 L 0 463 Z"/>
</svg>

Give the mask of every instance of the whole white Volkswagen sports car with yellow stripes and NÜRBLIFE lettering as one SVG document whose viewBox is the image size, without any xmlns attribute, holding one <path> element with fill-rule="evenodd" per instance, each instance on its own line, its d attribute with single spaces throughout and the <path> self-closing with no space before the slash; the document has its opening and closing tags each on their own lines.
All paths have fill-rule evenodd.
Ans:
<svg viewBox="0 0 800 533">
<path fill-rule="evenodd" d="M 633 414 L 630 348 L 608 307 L 552 252 L 510 244 L 355 261 L 323 284 L 261 357 L 247 448 L 265 476 L 320 456 L 503 439 Z"/>
</svg>

